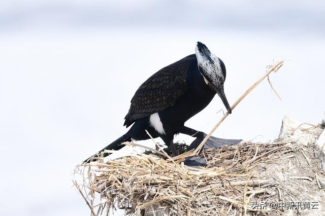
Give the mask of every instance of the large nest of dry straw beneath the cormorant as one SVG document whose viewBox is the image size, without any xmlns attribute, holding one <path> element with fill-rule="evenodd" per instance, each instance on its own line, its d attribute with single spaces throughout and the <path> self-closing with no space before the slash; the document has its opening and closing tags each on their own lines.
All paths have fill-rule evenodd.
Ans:
<svg viewBox="0 0 325 216">
<path fill-rule="evenodd" d="M 315 140 L 321 130 L 306 133 Z M 127 215 L 280 215 L 283 209 L 268 204 L 324 200 L 317 198 L 325 178 L 313 148 L 313 141 L 302 145 L 289 137 L 242 142 L 204 150 L 199 156 L 207 160 L 205 168 L 185 166 L 184 158 L 134 153 L 77 166 L 82 182 L 75 185 L 94 215 L 116 208 Z M 256 208 L 254 201 L 267 207 Z"/>
</svg>

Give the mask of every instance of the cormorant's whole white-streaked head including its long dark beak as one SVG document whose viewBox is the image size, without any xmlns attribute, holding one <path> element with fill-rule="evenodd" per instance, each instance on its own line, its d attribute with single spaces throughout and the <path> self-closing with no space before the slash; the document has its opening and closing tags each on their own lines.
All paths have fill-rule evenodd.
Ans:
<svg viewBox="0 0 325 216">
<path fill-rule="evenodd" d="M 223 91 L 225 80 L 225 66 L 223 62 L 201 42 L 198 42 L 195 53 L 204 81 L 219 95 L 227 111 L 231 114 L 231 107 Z"/>
</svg>

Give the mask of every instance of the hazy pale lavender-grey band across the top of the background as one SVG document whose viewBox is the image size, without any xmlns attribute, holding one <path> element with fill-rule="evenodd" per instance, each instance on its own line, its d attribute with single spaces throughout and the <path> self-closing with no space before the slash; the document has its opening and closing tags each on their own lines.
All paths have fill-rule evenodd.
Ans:
<svg viewBox="0 0 325 216">
<path fill-rule="evenodd" d="M 0 1 L 3 29 L 43 26 L 324 33 L 323 1 Z"/>
</svg>

